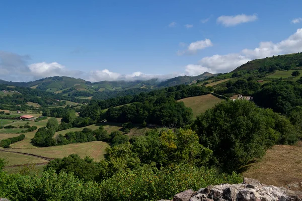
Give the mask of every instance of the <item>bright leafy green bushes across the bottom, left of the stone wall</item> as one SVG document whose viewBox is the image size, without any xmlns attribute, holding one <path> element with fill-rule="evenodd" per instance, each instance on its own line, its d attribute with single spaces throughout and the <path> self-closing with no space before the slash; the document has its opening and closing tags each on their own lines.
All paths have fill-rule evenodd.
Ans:
<svg viewBox="0 0 302 201">
<path fill-rule="evenodd" d="M 1 161 L 0 161 L 1 162 Z M 101 183 L 84 182 L 61 171 L 43 172 L 41 178 L 7 174 L 0 170 L 0 197 L 10 200 L 159 200 L 183 190 L 210 184 L 239 183 L 240 175 L 218 174 L 189 165 L 154 170 L 150 166 L 121 171 Z"/>
</svg>

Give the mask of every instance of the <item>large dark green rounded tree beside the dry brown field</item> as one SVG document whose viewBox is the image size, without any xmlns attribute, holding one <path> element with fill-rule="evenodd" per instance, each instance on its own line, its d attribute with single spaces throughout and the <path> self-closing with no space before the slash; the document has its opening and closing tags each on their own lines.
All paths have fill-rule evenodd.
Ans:
<svg viewBox="0 0 302 201">
<path fill-rule="evenodd" d="M 290 136 L 296 135 L 288 120 L 247 100 L 221 102 L 198 116 L 192 128 L 228 172 L 264 156 L 274 144 L 290 143 Z"/>
</svg>

